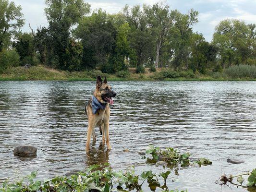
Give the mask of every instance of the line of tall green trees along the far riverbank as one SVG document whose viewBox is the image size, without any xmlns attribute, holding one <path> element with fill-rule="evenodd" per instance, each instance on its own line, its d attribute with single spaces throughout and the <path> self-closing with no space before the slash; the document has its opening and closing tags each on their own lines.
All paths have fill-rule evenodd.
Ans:
<svg viewBox="0 0 256 192">
<path fill-rule="evenodd" d="M 37 65 L 104 73 L 145 67 L 221 72 L 237 64 L 256 64 L 256 24 L 226 19 L 212 42 L 192 30 L 198 12 L 183 14 L 169 5 L 126 5 L 122 12 L 91 12 L 84 0 L 46 0 L 49 22 L 22 33 L 22 8 L 0 0 L 0 72 L 12 66 Z"/>
</svg>

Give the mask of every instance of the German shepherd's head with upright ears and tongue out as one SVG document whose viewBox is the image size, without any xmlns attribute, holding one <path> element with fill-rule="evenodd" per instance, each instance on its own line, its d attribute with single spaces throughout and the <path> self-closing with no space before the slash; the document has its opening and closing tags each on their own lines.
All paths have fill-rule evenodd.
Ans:
<svg viewBox="0 0 256 192">
<path fill-rule="evenodd" d="M 104 81 L 102 82 L 101 77 L 97 76 L 96 90 L 94 93 L 99 102 L 101 102 L 101 103 L 108 102 L 111 105 L 114 104 L 112 97 L 115 97 L 116 93 L 111 90 L 111 86 L 110 86 L 110 84 L 108 84 L 106 77 L 105 77 Z"/>
</svg>

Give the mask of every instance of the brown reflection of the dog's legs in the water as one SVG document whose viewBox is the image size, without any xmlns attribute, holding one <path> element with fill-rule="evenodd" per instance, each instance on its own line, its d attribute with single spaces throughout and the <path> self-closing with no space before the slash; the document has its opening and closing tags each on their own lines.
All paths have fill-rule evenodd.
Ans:
<svg viewBox="0 0 256 192">
<path fill-rule="evenodd" d="M 105 145 L 99 144 L 98 149 L 95 148 L 96 143 L 93 142 L 91 150 L 85 156 L 86 165 L 105 164 L 109 163 L 109 150 L 106 150 Z"/>
</svg>

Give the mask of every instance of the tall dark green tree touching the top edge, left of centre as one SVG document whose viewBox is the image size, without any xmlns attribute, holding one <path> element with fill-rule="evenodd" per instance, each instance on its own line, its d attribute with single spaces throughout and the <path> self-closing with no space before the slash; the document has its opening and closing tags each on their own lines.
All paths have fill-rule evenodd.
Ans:
<svg viewBox="0 0 256 192">
<path fill-rule="evenodd" d="M 79 46 L 72 46 L 74 42 L 71 38 L 71 29 L 75 24 L 78 24 L 78 21 L 85 16 L 85 14 L 89 13 L 90 5 L 83 0 L 46 0 L 46 5 L 45 12 L 49 27 L 42 28 L 42 33 L 40 33 L 39 29 L 37 33 L 39 32 L 38 41 L 40 41 L 39 39 L 41 38 L 45 38 L 41 39 L 41 41 L 50 43 L 44 43 L 46 48 L 43 50 L 40 47 L 37 48 L 41 50 L 41 54 L 44 54 L 42 51 L 47 50 L 47 58 L 45 61 L 50 66 L 63 70 L 77 69 L 76 67 L 69 66 L 74 66 L 76 63 L 66 61 L 66 58 L 71 57 L 67 54 L 73 52 L 67 51 L 70 50 L 70 48 L 78 48 L 78 52 L 74 52 L 80 53 Z M 37 44 L 37 46 L 40 45 Z M 77 58 L 80 57 L 78 56 Z"/>
</svg>

